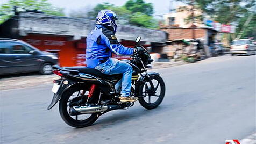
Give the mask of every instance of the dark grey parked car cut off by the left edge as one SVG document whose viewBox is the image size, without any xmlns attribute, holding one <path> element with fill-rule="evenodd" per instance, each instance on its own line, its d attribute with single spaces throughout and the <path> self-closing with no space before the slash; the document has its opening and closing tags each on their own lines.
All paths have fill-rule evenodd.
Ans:
<svg viewBox="0 0 256 144">
<path fill-rule="evenodd" d="M 39 71 L 52 74 L 58 58 L 16 39 L 0 38 L 0 75 Z"/>
</svg>

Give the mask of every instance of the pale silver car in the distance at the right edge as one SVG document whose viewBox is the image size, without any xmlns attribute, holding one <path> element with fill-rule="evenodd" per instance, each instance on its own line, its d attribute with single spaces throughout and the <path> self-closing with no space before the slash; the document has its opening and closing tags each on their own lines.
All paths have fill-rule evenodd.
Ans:
<svg viewBox="0 0 256 144">
<path fill-rule="evenodd" d="M 234 54 L 255 54 L 256 46 L 250 39 L 233 40 L 230 46 L 230 53 Z"/>
</svg>

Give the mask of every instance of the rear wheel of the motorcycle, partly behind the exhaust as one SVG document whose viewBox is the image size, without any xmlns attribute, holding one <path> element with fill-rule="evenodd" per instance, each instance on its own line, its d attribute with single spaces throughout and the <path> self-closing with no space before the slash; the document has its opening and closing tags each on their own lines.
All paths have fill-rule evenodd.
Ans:
<svg viewBox="0 0 256 144">
<path fill-rule="evenodd" d="M 84 95 L 82 95 L 83 93 Z M 60 99 L 59 103 L 59 112 L 61 118 L 65 121 L 66 124 L 76 128 L 82 128 L 92 125 L 99 117 L 99 113 L 92 114 L 82 114 L 78 116 L 70 116 L 69 114 L 69 103 L 72 99 L 77 97 L 86 97 L 89 93 L 89 88 L 84 87 L 73 87 L 65 91 L 63 96 Z M 95 98 L 95 97 L 93 97 Z M 91 100 L 94 102 L 94 99 Z"/>
</svg>

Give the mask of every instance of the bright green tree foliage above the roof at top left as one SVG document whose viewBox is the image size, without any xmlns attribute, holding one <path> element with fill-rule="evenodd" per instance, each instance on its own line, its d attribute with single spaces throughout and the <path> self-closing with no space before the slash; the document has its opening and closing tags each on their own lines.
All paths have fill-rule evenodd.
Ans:
<svg viewBox="0 0 256 144">
<path fill-rule="evenodd" d="M 49 15 L 65 16 L 63 8 L 57 8 L 48 3 L 47 0 L 9 0 L 0 6 L 0 23 L 3 23 L 15 14 L 13 12 L 14 6 L 30 10 L 40 10 Z"/>
</svg>

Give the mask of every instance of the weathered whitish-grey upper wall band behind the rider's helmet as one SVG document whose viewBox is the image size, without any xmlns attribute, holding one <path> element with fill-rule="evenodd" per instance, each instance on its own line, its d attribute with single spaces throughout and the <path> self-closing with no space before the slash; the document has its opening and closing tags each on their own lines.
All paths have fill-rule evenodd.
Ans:
<svg viewBox="0 0 256 144">
<path fill-rule="evenodd" d="M 18 28 L 19 34 L 22 36 L 26 36 L 29 33 L 40 33 L 68 35 L 74 39 L 80 39 L 81 37 L 87 37 L 88 33 L 94 29 L 96 22 L 95 20 L 56 17 L 31 12 L 21 12 L 19 17 Z M 167 39 L 167 34 L 163 31 L 130 25 L 119 25 L 116 35 L 119 40 L 134 41 L 138 35 L 141 36 L 141 41 L 148 42 L 166 41 Z"/>
</svg>

